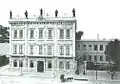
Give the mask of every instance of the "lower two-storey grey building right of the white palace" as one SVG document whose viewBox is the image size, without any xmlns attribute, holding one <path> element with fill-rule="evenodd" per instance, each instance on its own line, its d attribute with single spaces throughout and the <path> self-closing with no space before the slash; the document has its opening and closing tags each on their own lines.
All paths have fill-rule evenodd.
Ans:
<svg viewBox="0 0 120 84">
<path fill-rule="evenodd" d="M 87 62 L 108 63 L 108 57 L 105 55 L 108 42 L 108 40 L 77 40 L 76 56 Z"/>
</svg>

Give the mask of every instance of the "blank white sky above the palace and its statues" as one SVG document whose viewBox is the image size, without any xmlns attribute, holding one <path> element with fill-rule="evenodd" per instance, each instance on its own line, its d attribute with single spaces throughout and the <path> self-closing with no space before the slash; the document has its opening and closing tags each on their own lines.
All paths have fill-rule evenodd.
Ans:
<svg viewBox="0 0 120 84">
<path fill-rule="evenodd" d="M 0 4 L 0 24 L 8 26 L 9 11 L 13 17 L 28 17 L 40 14 L 72 16 L 76 10 L 77 31 L 83 31 L 82 39 L 120 39 L 120 0 L 2 0 Z"/>
</svg>

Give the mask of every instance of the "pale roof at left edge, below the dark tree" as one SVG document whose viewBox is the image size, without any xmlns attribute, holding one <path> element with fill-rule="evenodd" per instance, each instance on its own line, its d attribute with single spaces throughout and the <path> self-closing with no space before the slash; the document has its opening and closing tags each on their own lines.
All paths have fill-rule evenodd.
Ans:
<svg viewBox="0 0 120 84">
<path fill-rule="evenodd" d="M 0 55 L 9 54 L 9 43 L 0 43 Z"/>
</svg>

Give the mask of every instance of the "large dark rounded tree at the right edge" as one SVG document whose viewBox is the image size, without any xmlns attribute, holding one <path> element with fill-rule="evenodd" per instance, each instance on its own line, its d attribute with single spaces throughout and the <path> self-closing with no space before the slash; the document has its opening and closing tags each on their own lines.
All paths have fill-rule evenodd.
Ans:
<svg viewBox="0 0 120 84">
<path fill-rule="evenodd" d="M 120 41 L 118 39 L 108 43 L 105 54 L 108 56 L 109 61 L 115 63 L 116 70 L 120 70 Z"/>
</svg>

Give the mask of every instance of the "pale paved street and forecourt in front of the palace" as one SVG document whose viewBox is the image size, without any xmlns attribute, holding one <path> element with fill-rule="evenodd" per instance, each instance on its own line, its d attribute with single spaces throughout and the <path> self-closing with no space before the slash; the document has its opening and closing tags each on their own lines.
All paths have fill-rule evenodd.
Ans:
<svg viewBox="0 0 120 84">
<path fill-rule="evenodd" d="M 20 76 L 20 72 L 10 72 L 8 70 L 8 65 L 0 69 L 0 84 L 61 84 L 59 76 L 52 78 L 51 73 L 31 73 L 31 75 L 30 73 L 25 73 L 23 76 Z M 45 76 L 48 74 L 51 75 L 51 77 Z M 120 72 L 116 72 L 114 80 L 111 80 L 110 75 L 106 73 L 106 71 L 97 71 L 96 80 L 96 71 L 90 70 L 87 70 L 87 75 L 81 73 L 80 75 L 75 75 L 75 78 L 80 80 L 73 80 L 72 82 L 65 82 L 64 84 L 120 84 Z M 88 79 L 88 81 L 84 79 Z"/>
</svg>

